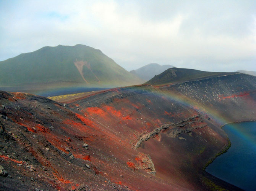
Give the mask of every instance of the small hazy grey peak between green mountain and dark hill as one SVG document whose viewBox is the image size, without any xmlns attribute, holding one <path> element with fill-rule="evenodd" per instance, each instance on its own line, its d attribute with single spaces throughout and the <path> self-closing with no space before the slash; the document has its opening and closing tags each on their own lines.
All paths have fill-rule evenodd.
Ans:
<svg viewBox="0 0 256 191">
<path fill-rule="evenodd" d="M 159 75 L 160 73 L 164 72 L 168 68 L 173 68 L 172 65 L 159 65 L 156 63 L 147 64 L 137 70 L 131 70 L 130 72 L 139 78 L 148 81 L 153 78 L 155 75 Z"/>
</svg>

